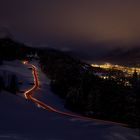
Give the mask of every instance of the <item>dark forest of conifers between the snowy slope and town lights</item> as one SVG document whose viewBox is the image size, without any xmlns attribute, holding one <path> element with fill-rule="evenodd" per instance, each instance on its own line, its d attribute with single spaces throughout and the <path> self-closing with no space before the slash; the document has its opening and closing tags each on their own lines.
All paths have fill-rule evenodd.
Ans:
<svg viewBox="0 0 140 140">
<path fill-rule="evenodd" d="M 65 100 L 66 108 L 139 127 L 140 80 L 135 74 L 129 79 L 132 86 L 111 75 L 101 79 L 88 64 L 57 51 L 42 52 L 40 65 L 51 79 L 53 92 Z"/>
</svg>

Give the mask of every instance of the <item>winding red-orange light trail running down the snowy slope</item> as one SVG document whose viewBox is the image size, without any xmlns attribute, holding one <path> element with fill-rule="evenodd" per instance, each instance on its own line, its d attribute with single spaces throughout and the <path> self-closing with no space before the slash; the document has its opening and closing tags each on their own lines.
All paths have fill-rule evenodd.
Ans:
<svg viewBox="0 0 140 140">
<path fill-rule="evenodd" d="M 39 101 L 38 99 L 32 97 L 33 92 L 36 91 L 39 88 L 37 68 L 36 68 L 35 65 L 29 64 L 28 61 L 23 61 L 23 64 L 29 65 L 29 66 L 32 67 L 32 75 L 33 75 L 33 78 L 34 78 L 34 86 L 31 89 L 25 91 L 24 96 L 25 96 L 26 99 L 31 100 L 32 102 L 37 104 L 39 107 L 42 107 L 43 109 L 46 109 L 50 112 L 55 112 L 55 113 L 65 115 L 65 116 L 68 116 L 68 117 L 75 117 L 75 118 L 79 118 L 79 119 L 82 119 L 82 120 L 98 121 L 98 122 L 103 122 L 103 123 L 107 123 L 107 124 L 115 124 L 115 125 L 121 125 L 121 126 L 124 126 L 124 127 L 128 127 L 127 124 L 123 124 L 123 123 L 105 121 L 105 120 L 100 120 L 100 119 L 94 119 L 94 118 L 84 117 L 84 116 L 80 116 L 80 115 L 75 115 L 75 114 L 72 114 L 72 113 L 62 112 L 60 110 L 57 110 L 57 109 Z"/>
</svg>

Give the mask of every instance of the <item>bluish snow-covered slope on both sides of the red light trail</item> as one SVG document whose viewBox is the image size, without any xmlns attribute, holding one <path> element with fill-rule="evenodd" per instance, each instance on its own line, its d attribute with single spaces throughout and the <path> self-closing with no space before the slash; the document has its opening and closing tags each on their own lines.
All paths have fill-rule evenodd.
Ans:
<svg viewBox="0 0 140 140">
<path fill-rule="evenodd" d="M 33 62 L 38 66 L 37 62 Z M 21 88 L 30 88 L 31 70 L 20 61 L 5 62 L 1 70 L 25 80 Z M 63 101 L 50 90 L 50 80 L 38 67 L 41 88 L 34 97 L 63 111 Z M 20 95 L 20 96 L 19 96 Z M 38 108 L 19 93 L 0 93 L 0 140 L 139 140 L 138 130 L 97 121 L 85 121 Z"/>
</svg>

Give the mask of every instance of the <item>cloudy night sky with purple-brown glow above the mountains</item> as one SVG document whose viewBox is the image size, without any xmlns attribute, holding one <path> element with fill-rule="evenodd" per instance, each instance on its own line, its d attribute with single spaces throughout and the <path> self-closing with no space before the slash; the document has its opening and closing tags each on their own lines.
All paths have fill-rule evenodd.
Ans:
<svg viewBox="0 0 140 140">
<path fill-rule="evenodd" d="M 5 30 L 33 46 L 87 53 L 139 45 L 140 0 L 0 0 Z"/>
</svg>

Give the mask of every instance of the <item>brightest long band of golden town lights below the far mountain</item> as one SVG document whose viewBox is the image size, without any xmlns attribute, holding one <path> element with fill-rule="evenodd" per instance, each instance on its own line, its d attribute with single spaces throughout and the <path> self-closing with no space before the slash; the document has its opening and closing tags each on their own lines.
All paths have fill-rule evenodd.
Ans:
<svg viewBox="0 0 140 140">
<path fill-rule="evenodd" d="M 135 71 L 140 74 L 140 68 L 138 67 L 126 67 L 126 66 L 121 66 L 121 65 L 114 65 L 111 63 L 105 63 L 105 64 L 91 64 L 92 67 L 98 67 L 98 68 L 102 68 L 102 69 L 114 69 L 114 70 L 120 70 L 123 72 L 126 72 L 128 74 L 133 74 Z"/>
</svg>

